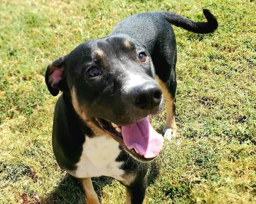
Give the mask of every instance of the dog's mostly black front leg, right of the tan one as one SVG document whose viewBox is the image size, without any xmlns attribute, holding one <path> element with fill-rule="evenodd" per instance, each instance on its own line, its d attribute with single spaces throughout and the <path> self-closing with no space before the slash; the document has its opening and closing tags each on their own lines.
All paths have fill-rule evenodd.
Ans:
<svg viewBox="0 0 256 204">
<path fill-rule="evenodd" d="M 126 203 L 127 204 L 142 204 L 147 188 L 147 177 L 145 176 L 142 182 L 136 182 L 132 186 L 126 186 Z"/>
</svg>

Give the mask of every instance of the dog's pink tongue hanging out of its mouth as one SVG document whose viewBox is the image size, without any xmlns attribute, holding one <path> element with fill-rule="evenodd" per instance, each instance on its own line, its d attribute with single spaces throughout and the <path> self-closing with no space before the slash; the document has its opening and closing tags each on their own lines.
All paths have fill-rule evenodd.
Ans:
<svg viewBox="0 0 256 204">
<path fill-rule="evenodd" d="M 122 126 L 122 136 L 128 149 L 134 148 L 145 158 L 156 157 L 162 149 L 164 139 L 144 118 L 132 125 Z"/>
</svg>

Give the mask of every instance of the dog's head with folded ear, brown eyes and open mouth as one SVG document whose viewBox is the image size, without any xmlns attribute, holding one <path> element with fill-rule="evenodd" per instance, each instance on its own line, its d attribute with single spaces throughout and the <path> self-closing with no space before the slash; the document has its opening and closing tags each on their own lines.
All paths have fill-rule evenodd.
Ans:
<svg viewBox="0 0 256 204">
<path fill-rule="evenodd" d="M 107 132 L 128 153 L 152 160 L 163 139 L 148 116 L 164 107 L 154 67 L 145 46 L 127 36 L 87 41 L 53 61 L 45 75 L 53 96 L 63 91 L 94 132 Z"/>
</svg>

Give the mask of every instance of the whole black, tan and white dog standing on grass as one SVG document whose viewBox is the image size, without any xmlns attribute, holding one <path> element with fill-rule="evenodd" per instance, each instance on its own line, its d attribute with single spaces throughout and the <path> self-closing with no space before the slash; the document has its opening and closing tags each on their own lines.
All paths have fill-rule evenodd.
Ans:
<svg viewBox="0 0 256 204">
<path fill-rule="evenodd" d="M 206 34 L 218 27 L 168 11 L 132 15 L 111 33 L 84 42 L 47 67 L 49 92 L 62 94 L 55 106 L 52 147 L 58 165 L 81 187 L 88 204 L 98 204 L 91 177 L 110 176 L 126 187 L 128 204 L 141 204 L 148 162 L 164 138 L 175 137 L 176 39 L 170 24 Z M 156 82 L 156 80 L 158 83 Z M 163 135 L 148 116 L 166 101 Z"/>
</svg>

